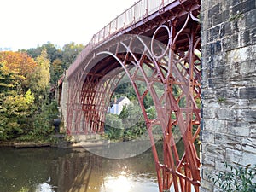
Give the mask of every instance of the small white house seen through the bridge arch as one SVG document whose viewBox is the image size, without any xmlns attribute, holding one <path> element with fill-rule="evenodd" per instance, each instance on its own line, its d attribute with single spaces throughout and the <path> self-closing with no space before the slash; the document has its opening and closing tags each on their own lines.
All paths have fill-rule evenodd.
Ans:
<svg viewBox="0 0 256 192">
<path fill-rule="evenodd" d="M 124 106 L 128 106 L 130 104 L 132 104 L 132 102 L 126 96 L 122 96 L 119 99 L 115 97 L 114 102 L 111 102 L 110 106 L 108 107 L 108 113 L 119 115 L 122 112 Z"/>
</svg>

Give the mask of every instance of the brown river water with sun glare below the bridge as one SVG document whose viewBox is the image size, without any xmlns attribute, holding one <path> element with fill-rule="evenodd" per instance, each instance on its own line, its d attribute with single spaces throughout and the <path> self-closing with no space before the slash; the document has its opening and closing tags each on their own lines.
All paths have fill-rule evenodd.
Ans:
<svg viewBox="0 0 256 192">
<path fill-rule="evenodd" d="M 0 148 L 0 192 L 34 191 L 157 192 L 153 155 L 149 148 L 111 160 L 83 148 Z"/>
</svg>

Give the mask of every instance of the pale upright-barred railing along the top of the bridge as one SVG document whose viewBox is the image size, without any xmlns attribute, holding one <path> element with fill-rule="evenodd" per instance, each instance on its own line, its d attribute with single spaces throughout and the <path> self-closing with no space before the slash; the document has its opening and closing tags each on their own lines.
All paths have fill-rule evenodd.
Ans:
<svg viewBox="0 0 256 192">
<path fill-rule="evenodd" d="M 147 19 L 148 15 L 152 15 L 154 12 L 175 1 L 177 0 L 140 0 L 133 4 L 91 38 L 89 44 L 86 45 L 76 61 L 68 68 L 67 76 L 71 75 L 79 67 L 81 61 L 83 61 L 96 45 L 101 44 L 108 38 L 112 38 L 115 34 L 128 27 L 135 26 L 138 21 Z"/>
</svg>

